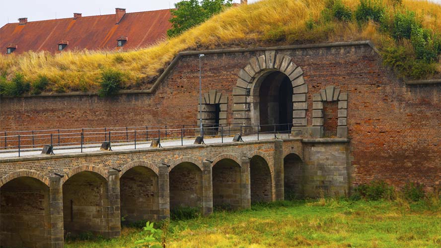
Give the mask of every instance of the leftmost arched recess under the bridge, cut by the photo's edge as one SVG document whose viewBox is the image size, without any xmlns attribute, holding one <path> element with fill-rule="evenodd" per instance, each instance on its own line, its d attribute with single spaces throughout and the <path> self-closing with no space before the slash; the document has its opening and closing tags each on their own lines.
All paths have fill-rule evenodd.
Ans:
<svg viewBox="0 0 441 248">
<path fill-rule="evenodd" d="M 1 247 L 50 247 L 49 187 L 35 178 L 15 178 L 0 187 Z"/>
</svg>

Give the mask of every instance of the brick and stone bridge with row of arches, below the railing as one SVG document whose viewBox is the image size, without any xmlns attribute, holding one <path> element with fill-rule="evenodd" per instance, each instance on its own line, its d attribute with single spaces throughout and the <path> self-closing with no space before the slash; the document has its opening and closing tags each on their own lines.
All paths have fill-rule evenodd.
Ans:
<svg viewBox="0 0 441 248">
<path fill-rule="evenodd" d="M 121 220 L 161 220 L 181 206 L 245 209 L 252 202 L 345 194 L 349 140 L 273 139 L 0 159 L 0 244 L 59 248 L 91 232 L 120 236 Z"/>
</svg>

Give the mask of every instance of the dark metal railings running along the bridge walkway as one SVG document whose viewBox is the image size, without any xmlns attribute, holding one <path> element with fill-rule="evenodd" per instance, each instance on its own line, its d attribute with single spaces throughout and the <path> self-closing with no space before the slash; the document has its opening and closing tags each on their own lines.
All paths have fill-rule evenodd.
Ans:
<svg viewBox="0 0 441 248">
<path fill-rule="evenodd" d="M 163 128 L 161 128 L 163 127 Z M 164 126 L 136 126 L 136 127 L 104 127 L 104 128 L 77 128 L 77 129 L 51 129 L 32 131 L 3 131 L 0 136 L 0 152 L 17 152 L 20 157 L 22 152 L 40 150 L 44 145 L 51 145 L 57 149 L 79 149 L 100 146 L 108 141 L 110 145 L 137 145 L 161 140 L 180 140 L 184 146 L 184 139 L 197 136 L 219 137 L 221 143 L 224 138 L 240 134 L 241 136 L 257 134 L 256 139 L 265 133 L 277 134 L 286 132 L 290 137 L 292 124 L 265 124 L 265 125 L 237 125 L 237 124 L 204 124 L 201 132 L 199 125 L 164 125 Z M 13 150 L 13 151 L 12 151 Z"/>
</svg>

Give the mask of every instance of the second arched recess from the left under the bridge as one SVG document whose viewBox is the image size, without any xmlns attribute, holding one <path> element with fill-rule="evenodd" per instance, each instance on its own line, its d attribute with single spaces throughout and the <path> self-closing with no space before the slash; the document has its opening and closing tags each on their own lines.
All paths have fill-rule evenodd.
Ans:
<svg viewBox="0 0 441 248">
<path fill-rule="evenodd" d="M 98 173 L 82 171 L 63 184 L 65 238 L 84 233 L 107 236 L 107 180 Z"/>
</svg>

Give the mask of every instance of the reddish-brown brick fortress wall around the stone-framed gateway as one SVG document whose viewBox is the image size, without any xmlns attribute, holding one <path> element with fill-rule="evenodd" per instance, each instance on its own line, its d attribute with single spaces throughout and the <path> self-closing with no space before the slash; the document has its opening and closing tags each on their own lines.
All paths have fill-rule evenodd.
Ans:
<svg viewBox="0 0 441 248">
<path fill-rule="evenodd" d="M 276 49 L 277 50 L 277 49 Z M 294 58 L 312 95 L 326 86 L 349 93 L 348 127 L 352 184 L 380 179 L 395 186 L 421 182 L 441 186 L 441 86 L 408 86 L 381 64 L 368 45 L 280 50 Z M 264 51 L 206 53 L 203 93 L 228 96 L 252 56 Z M 154 94 L 1 99 L 1 130 L 197 124 L 198 56 L 183 56 Z M 329 113 L 333 113 L 330 108 Z M 325 120 L 325 127 L 328 126 Z M 330 127 L 328 126 L 328 129 Z M 332 130 L 332 129 L 331 129 Z"/>
</svg>

